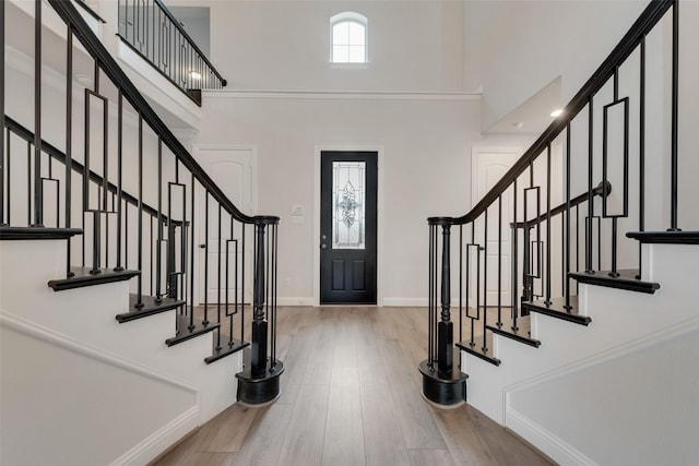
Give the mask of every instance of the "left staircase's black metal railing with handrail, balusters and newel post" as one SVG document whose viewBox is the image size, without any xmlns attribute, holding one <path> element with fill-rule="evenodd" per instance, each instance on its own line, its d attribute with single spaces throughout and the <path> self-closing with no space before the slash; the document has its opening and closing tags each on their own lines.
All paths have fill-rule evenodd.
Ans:
<svg viewBox="0 0 699 466">
<path fill-rule="evenodd" d="M 251 337 L 246 367 L 253 377 L 238 374 L 239 396 L 248 403 L 269 401 L 279 393 L 283 371 L 275 343 L 279 217 L 240 212 L 74 5 L 48 3 L 52 9 L 35 2 L 33 88 L 13 77 L 13 87 L 5 89 L 11 97 L 0 100 L 0 236 L 79 227 L 83 235 L 67 240 L 66 277 L 51 280 L 54 289 L 130 279 L 129 309 L 117 319 L 175 309 L 176 335 L 166 343 L 213 332 L 206 362 L 247 347 Z M 2 2 L 3 52 L 5 7 Z M 43 80 L 43 16 L 49 14 L 66 24 L 64 74 L 58 86 Z M 87 85 L 74 74 L 86 60 L 93 71 Z M 7 73 L 4 61 L 2 85 Z M 34 106 L 25 121 L 5 116 L 22 113 L 27 101 Z"/>
</svg>

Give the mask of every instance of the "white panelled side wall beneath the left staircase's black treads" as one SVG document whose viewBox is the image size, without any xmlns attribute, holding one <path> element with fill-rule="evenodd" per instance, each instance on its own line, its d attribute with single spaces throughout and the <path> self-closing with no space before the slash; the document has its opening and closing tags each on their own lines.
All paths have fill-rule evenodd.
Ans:
<svg viewBox="0 0 699 466">
<path fill-rule="evenodd" d="M 123 282 L 56 292 L 64 264 L 64 241 L 0 242 L 1 464 L 144 465 L 235 403 L 241 351 L 167 347 L 174 310 L 118 323 Z"/>
</svg>

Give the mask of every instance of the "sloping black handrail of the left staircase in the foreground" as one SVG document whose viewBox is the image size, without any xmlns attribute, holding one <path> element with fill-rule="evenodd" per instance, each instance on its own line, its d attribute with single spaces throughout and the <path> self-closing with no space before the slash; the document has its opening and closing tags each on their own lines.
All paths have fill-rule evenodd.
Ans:
<svg viewBox="0 0 699 466">
<path fill-rule="evenodd" d="M 61 19 L 72 26 L 73 34 L 85 47 L 87 52 L 99 63 L 102 71 L 121 88 L 123 97 L 138 109 L 143 120 L 158 133 L 163 143 L 175 154 L 177 159 L 187 167 L 194 178 L 211 193 L 211 195 L 233 217 L 246 224 L 256 223 L 256 217 L 244 214 L 234 205 L 218 186 L 211 179 L 204 169 L 194 160 L 187 148 L 173 134 L 167 124 L 157 116 L 153 107 L 145 100 L 126 73 L 117 64 L 116 60 L 95 37 L 90 26 L 82 19 L 78 10 L 70 3 L 61 0 L 48 0 Z M 279 218 L 279 217 L 277 217 Z"/>
</svg>

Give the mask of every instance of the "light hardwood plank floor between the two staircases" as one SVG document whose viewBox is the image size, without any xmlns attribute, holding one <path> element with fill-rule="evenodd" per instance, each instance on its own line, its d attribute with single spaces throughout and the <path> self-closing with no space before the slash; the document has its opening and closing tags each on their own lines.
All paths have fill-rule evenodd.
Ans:
<svg viewBox="0 0 699 466">
<path fill-rule="evenodd" d="M 280 398 L 232 406 L 154 465 L 550 465 L 469 405 L 423 399 L 426 312 L 280 308 Z"/>
</svg>

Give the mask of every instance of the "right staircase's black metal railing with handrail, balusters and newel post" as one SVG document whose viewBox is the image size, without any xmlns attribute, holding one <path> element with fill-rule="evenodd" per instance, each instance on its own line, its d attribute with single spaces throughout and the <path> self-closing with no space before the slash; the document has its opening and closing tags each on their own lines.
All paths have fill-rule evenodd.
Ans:
<svg viewBox="0 0 699 466">
<path fill-rule="evenodd" d="M 670 11 L 672 21 L 661 23 Z M 442 405 L 465 399 L 465 368 L 451 356 L 452 310 L 459 312 L 457 346 L 499 365 L 494 332 L 538 345 L 522 322 L 532 306 L 590 323 L 579 313 L 571 279 L 649 289 L 641 280 L 640 246 L 619 236 L 644 231 L 651 224 L 649 217 L 656 213 L 647 205 L 650 191 L 667 205 L 670 230 L 678 229 L 677 25 L 676 0 L 650 2 L 562 115 L 467 214 L 428 219 L 429 349 L 419 369 L 429 399 Z M 668 46 L 661 34 L 649 38 L 656 26 L 663 33 L 672 29 Z M 671 57 L 666 73 L 647 64 L 647 40 Z M 655 96 L 663 99 L 665 89 L 672 89 L 666 108 L 654 108 L 653 115 L 645 111 L 651 72 Z M 667 132 L 657 117 L 663 111 L 672 116 Z M 656 146 L 647 160 L 650 142 Z M 668 167 L 670 177 L 662 180 L 668 189 L 663 191 L 659 177 L 649 176 L 649 160 Z M 572 198 L 572 192 L 584 194 Z M 660 225 L 664 219 L 656 217 L 652 223 Z"/>
</svg>

